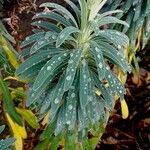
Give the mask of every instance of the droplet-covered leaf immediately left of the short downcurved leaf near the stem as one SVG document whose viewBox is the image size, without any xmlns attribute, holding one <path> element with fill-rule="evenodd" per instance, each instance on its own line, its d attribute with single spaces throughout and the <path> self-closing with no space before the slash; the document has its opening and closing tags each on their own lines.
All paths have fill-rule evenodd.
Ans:
<svg viewBox="0 0 150 150">
<path fill-rule="evenodd" d="M 43 48 L 46 45 L 52 44 L 56 42 L 57 39 L 57 33 L 54 32 L 45 32 L 45 36 L 42 38 L 39 38 L 31 47 L 30 53 L 33 54 L 37 52 L 39 49 Z"/>
</svg>

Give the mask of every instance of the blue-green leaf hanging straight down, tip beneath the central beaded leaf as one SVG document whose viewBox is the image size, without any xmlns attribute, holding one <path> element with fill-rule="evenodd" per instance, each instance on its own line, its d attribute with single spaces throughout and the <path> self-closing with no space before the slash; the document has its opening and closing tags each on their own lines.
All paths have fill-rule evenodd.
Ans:
<svg viewBox="0 0 150 150">
<path fill-rule="evenodd" d="M 77 89 L 73 86 L 66 98 L 66 111 L 65 111 L 65 123 L 68 125 L 69 130 L 73 130 L 76 126 L 76 107 L 77 107 Z"/>
</svg>

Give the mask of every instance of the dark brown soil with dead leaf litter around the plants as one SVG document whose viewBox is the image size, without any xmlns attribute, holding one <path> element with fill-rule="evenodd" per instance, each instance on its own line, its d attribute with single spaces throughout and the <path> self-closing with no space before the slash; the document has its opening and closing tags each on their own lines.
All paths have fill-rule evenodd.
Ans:
<svg viewBox="0 0 150 150">
<path fill-rule="evenodd" d="M 40 11 L 39 4 L 48 0 L 31 0 L 5 6 L 3 20 L 9 32 L 15 37 L 14 45 L 20 51 L 20 42 L 31 34 L 32 16 Z M 49 0 L 50 1 L 50 0 Z M 63 4 L 63 0 L 53 0 Z M 150 45 L 137 53 L 140 63 L 139 73 L 128 75 L 126 83 L 126 101 L 130 115 L 127 119 L 121 118 L 120 103 L 109 119 L 105 133 L 96 150 L 148 150 L 150 148 Z M 33 149 L 38 142 L 40 131 L 29 130 L 29 138 L 25 141 L 25 149 Z"/>
</svg>

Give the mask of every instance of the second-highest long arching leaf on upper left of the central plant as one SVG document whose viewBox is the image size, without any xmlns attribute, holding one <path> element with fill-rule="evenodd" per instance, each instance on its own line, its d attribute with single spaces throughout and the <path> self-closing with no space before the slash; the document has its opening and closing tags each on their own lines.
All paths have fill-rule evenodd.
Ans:
<svg viewBox="0 0 150 150">
<path fill-rule="evenodd" d="M 70 26 L 70 22 L 66 20 L 66 18 L 62 17 L 61 15 L 54 13 L 54 12 L 42 12 L 36 14 L 33 19 L 37 18 L 48 18 L 57 21 L 58 23 L 61 23 L 64 26 Z"/>
</svg>

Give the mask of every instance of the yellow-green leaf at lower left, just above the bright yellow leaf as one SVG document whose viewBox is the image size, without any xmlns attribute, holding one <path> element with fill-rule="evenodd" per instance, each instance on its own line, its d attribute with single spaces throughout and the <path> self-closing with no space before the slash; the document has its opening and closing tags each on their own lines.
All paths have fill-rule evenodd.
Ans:
<svg viewBox="0 0 150 150">
<path fill-rule="evenodd" d="M 37 118 L 32 113 L 32 111 L 27 110 L 27 109 L 22 109 L 22 108 L 16 108 L 16 110 L 28 122 L 28 124 L 32 128 L 34 128 L 34 129 L 39 128 L 39 124 L 38 124 Z"/>
</svg>

